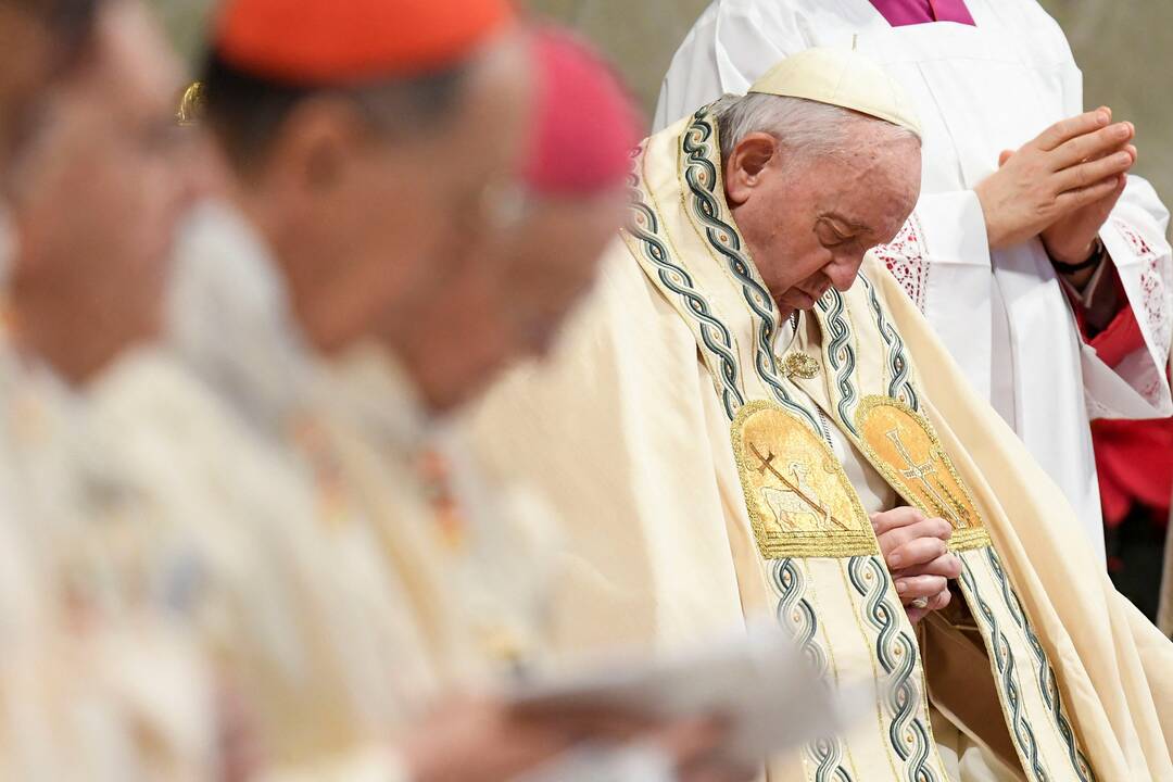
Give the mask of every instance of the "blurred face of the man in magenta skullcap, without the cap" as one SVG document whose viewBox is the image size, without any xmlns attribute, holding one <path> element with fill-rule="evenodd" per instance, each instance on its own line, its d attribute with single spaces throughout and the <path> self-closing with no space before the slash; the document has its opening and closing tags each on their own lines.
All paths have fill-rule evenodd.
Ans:
<svg viewBox="0 0 1173 782">
<path fill-rule="evenodd" d="M 480 245 L 453 247 L 463 271 L 412 328 L 382 333 L 433 413 L 472 401 L 510 363 L 544 356 L 626 213 L 622 186 L 534 198 L 522 220 Z"/>
</svg>

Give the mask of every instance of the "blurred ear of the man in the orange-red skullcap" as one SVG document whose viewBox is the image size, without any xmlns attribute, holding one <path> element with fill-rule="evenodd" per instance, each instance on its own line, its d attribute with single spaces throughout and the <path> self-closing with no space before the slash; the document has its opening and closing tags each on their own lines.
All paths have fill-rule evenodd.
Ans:
<svg viewBox="0 0 1173 782">
<path fill-rule="evenodd" d="M 265 166 L 267 178 L 279 189 L 304 197 L 330 195 L 346 179 L 368 132 L 345 100 L 304 101 L 282 125 Z"/>
</svg>

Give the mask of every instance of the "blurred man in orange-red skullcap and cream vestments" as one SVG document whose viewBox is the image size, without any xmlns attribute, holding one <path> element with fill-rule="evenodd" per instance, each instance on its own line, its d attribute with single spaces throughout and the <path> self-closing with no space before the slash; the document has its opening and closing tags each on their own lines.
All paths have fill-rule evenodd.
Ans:
<svg viewBox="0 0 1173 782">
<path fill-rule="evenodd" d="M 270 574 L 279 632 L 239 626 L 262 655 L 231 654 L 271 773 L 506 780 L 583 736 L 643 735 L 618 714 L 534 720 L 460 694 L 483 686 L 489 661 L 414 460 L 443 408 L 422 376 L 459 367 L 506 312 L 504 259 L 486 271 L 469 249 L 517 213 L 507 196 L 544 67 L 528 35 L 496 0 L 323 1 L 292 18 L 284 2 L 235 0 L 210 48 L 205 122 L 232 176 L 228 203 L 182 249 L 175 339 L 250 448 L 269 453 L 272 482 L 242 475 L 232 492 L 269 506 L 262 532 L 299 569 Z M 589 278 L 594 258 L 581 261 Z M 465 287 L 465 273 L 487 288 Z M 435 336 L 412 319 L 438 322 L 449 295 L 491 308 L 467 345 L 434 341 L 400 366 L 407 340 Z M 441 378 L 455 399 L 481 381 Z M 262 591 L 238 603 L 259 611 Z M 707 721 L 669 727 L 684 732 L 666 744 L 680 759 L 718 736 Z"/>
</svg>

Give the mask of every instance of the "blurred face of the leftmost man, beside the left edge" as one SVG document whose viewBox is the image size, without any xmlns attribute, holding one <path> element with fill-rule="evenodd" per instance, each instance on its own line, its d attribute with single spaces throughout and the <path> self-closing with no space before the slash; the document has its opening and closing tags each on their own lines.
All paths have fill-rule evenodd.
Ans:
<svg viewBox="0 0 1173 782">
<path fill-rule="evenodd" d="M 178 222 L 196 198 L 175 95 L 178 62 L 138 0 L 101 11 L 87 67 L 47 97 L 13 171 L 13 331 L 83 382 L 155 340 Z"/>
</svg>

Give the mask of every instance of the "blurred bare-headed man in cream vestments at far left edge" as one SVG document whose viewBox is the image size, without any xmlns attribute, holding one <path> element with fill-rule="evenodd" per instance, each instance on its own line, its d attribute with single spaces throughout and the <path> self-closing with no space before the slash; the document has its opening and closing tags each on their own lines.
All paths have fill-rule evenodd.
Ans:
<svg viewBox="0 0 1173 782">
<path fill-rule="evenodd" d="M 12 778 L 198 780 L 216 770 L 215 688 L 184 625 L 122 587 L 140 540 L 100 521 L 106 454 L 89 437 L 90 406 L 162 328 L 192 195 L 171 121 L 179 70 L 137 0 L 93 22 L 84 61 L 33 98 L 7 172 L 4 523 L 19 565 L 4 591 L 19 597 L 4 599 L 0 755 Z"/>
</svg>

